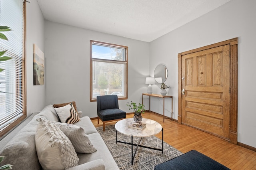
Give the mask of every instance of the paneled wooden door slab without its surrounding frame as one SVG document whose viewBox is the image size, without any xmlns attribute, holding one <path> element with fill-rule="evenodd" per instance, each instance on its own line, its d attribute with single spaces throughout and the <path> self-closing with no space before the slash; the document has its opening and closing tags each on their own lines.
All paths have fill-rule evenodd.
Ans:
<svg viewBox="0 0 256 170">
<path fill-rule="evenodd" d="M 182 123 L 229 140 L 230 45 L 181 56 Z"/>
</svg>

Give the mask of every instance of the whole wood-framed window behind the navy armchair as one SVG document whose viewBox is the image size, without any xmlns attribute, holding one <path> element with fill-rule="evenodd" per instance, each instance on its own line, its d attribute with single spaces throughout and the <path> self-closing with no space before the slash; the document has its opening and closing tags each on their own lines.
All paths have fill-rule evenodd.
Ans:
<svg viewBox="0 0 256 170">
<path fill-rule="evenodd" d="M 98 95 L 127 99 L 128 47 L 91 41 L 90 101 Z"/>
</svg>

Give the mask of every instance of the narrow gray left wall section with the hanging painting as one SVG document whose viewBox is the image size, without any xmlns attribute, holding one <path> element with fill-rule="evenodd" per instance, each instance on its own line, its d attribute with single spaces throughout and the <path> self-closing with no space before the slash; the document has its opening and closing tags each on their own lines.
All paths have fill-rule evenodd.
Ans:
<svg viewBox="0 0 256 170">
<path fill-rule="evenodd" d="M 26 85 L 27 115 L 29 116 L 44 108 L 46 85 L 33 85 L 33 43 L 44 52 L 44 17 L 36 0 L 26 3 L 26 6 Z"/>
</svg>

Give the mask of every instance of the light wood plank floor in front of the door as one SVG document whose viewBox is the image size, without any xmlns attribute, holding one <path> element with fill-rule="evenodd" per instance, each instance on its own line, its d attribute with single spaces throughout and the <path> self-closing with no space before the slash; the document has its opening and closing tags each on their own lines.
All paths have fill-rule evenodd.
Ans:
<svg viewBox="0 0 256 170">
<path fill-rule="evenodd" d="M 132 114 L 126 116 L 126 118 L 132 117 Z M 165 119 L 163 123 L 162 116 L 158 114 L 146 112 L 142 117 L 159 122 L 164 128 L 164 142 L 183 153 L 197 150 L 232 170 L 256 170 L 256 152 L 252 150 L 169 119 Z M 103 125 L 101 121 L 98 125 L 97 119 L 92 120 L 92 123 L 95 127 Z M 106 123 L 106 125 L 113 124 L 115 122 Z M 162 138 L 162 133 L 156 136 Z"/>
</svg>

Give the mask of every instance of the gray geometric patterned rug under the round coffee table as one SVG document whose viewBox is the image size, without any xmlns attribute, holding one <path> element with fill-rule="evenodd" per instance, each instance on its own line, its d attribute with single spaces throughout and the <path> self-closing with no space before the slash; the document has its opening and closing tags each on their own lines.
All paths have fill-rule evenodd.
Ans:
<svg viewBox="0 0 256 170">
<path fill-rule="evenodd" d="M 159 150 L 138 147 L 132 165 L 132 146 L 130 144 L 116 143 L 115 125 L 106 126 L 105 132 L 103 132 L 103 127 L 98 127 L 97 130 L 102 136 L 120 170 L 154 170 L 154 167 L 157 164 L 166 162 L 167 160 L 183 154 L 166 142 L 164 142 L 163 154 L 162 151 Z M 117 136 L 120 141 L 131 142 L 131 136 L 127 136 L 119 132 L 117 133 Z M 138 137 L 134 137 L 133 143 L 137 144 L 138 140 Z M 140 145 L 162 149 L 162 140 L 156 136 L 145 137 L 142 138 Z M 134 146 L 133 149 L 134 153 L 136 146 Z"/>
</svg>

